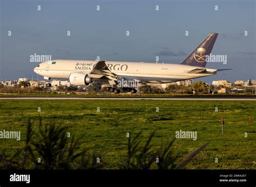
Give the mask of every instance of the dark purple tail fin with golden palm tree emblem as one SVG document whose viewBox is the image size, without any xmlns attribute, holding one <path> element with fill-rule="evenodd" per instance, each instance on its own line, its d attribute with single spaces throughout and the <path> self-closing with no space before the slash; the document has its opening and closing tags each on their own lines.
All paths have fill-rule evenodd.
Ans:
<svg viewBox="0 0 256 187">
<path fill-rule="evenodd" d="M 210 33 L 194 51 L 187 56 L 187 58 L 181 63 L 187 66 L 206 66 L 206 55 L 210 55 L 214 43 L 218 37 L 218 33 Z"/>
</svg>

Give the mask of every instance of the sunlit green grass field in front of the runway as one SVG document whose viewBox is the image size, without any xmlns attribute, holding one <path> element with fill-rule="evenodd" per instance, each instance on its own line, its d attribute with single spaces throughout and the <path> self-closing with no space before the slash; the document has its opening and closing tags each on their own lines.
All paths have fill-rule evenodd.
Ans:
<svg viewBox="0 0 256 187">
<path fill-rule="evenodd" d="M 22 135 L 21 141 L 0 139 L 0 150 L 8 155 L 24 146 L 29 118 L 37 130 L 40 115 L 43 124 L 68 127 L 68 132 L 79 142 L 79 149 L 100 156 L 107 163 L 105 169 L 119 169 L 125 161 L 126 132 L 132 136 L 143 131 L 142 141 L 146 142 L 155 130 L 152 149 L 169 143 L 176 131 L 197 131 L 196 141 L 176 139 L 174 142 L 173 152 L 179 155 L 179 161 L 210 141 L 186 169 L 256 169 L 254 101 L 0 100 L 0 113 L 0 131 L 21 131 Z M 221 116 L 225 120 L 224 135 Z M 214 162 L 215 158 L 218 163 Z"/>
</svg>

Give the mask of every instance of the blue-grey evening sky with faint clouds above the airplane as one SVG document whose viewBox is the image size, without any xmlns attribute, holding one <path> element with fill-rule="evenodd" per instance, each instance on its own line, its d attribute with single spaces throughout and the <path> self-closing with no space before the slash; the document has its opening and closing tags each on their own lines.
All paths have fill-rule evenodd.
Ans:
<svg viewBox="0 0 256 187">
<path fill-rule="evenodd" d="M 219 33 L 212 54 L 227 55 L 227 63 L 206 67 L 233 70 L 196 81 L 256 79 L 255 10 L 254 0 L 0 0 L 0 80 L 36 80 L 33 54 L 178 64 L 211 32 Z"/>
</svg>

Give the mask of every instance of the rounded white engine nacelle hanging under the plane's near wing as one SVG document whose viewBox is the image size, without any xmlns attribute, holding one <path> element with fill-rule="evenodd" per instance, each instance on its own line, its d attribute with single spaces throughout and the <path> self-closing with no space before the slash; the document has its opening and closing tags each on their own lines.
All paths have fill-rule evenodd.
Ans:
<svg viewBox="0 0 256 187">
<path fill-rule="evenodd" d="M 88 74 L 81 72 L 71 73 L 69 76 L 69 81 L 75 86 L 84 86 L 92 83 L 92 78 Z"/>
</svg>

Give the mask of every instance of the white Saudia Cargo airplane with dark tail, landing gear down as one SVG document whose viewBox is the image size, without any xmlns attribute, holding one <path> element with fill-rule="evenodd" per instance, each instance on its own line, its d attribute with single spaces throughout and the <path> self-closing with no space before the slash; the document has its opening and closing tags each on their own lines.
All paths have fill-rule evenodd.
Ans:
<svg viewBox="0 0 256 187">
<path fill-rule="evenodd" d="M 146 63 L 123 61 L 53 60 L 40 63 L 34 71 L 51 78 L 69 79 L 71 85 L 85 86 L 90 83 L 108 84 L 107 91 L 120 93 L 120 80 L 145 83 L 171 83 L 217 74 L 230 69 L 206 68 L 206 57 L 210 55 L 218 33 L 210 33 L 194 51 L 180 64 Z M 51 84 L 48 83 L 51 87 Z M 123 87 L 136 93 L 136 88 Z"/>
</svg>

